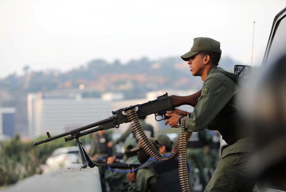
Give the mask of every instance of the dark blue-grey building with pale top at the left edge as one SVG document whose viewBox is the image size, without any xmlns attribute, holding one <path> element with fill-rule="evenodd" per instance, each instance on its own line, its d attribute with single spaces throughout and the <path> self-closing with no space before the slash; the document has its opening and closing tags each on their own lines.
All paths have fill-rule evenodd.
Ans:
<svg viewBox="0 0 286 192">
<path fill-rule="evenodd" d="M 0 107 L 0 135 L 6 138 L 15 135 L 14 107 Z"/>
</svg>

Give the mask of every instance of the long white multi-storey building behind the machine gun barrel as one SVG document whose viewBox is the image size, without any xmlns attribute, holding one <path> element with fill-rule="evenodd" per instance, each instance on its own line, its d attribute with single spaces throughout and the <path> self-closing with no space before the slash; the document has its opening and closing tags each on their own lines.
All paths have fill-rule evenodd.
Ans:
<svg viewBox="0 0 286 192">
<path fill-rule="evenodd" d="M 41 92 L 27 95 L 29 137 L 49 132 L 51 136 L 67 132 L 112 116 L 110 102 L 101 98 L 43 97 Z"/>
</svg>

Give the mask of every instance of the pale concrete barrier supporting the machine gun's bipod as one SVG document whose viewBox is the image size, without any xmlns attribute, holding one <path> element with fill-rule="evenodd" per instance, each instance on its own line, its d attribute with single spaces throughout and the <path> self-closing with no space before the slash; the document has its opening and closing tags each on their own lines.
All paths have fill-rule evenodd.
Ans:
<svg viewBox="0 0 286 192">
<path fill-rule="evenodd" d="M 98 167 L 82 169 L 73 165 L 42 175 L 34 175 L 15 185 L 1 188 L 1 192 L 101 192 Z"/>
</svg>

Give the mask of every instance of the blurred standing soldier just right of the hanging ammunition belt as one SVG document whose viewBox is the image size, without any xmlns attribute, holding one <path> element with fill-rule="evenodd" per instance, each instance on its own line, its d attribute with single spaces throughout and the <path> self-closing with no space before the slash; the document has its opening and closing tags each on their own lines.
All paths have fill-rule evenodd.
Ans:
<svg viewBox="0 0 286 192">
<path fill-rule="evenodd" d="M 202 191 L 206 188 L 206 176 L 204 174 L 204 167 L 206 167 L 206 155 L 209 154 L 209 143 L 212 140 L 208 130 L 198 131 L 192 133 L 192 136 L 187 144 L 187 160 L 190 163 L 190 183 L 194 186 L 194 168 L 197 167 L 200 174 L 200 183 L 202 184 Z"/>
</svg>

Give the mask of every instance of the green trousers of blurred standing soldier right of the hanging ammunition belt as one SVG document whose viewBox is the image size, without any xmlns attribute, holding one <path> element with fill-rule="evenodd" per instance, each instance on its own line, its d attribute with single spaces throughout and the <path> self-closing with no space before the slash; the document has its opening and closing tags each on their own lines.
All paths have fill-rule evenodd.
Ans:
<svg viewBox="0 0 286 192">
<path fill-rule="evenodd" d="M 203 189 L 206 187 L 206 177 L 204 174 L 205 155 L 204 148 L 187 148 L 187 160 L 191 167 L 190 183 L 194 186 L 194 168 L 197 167 L 200 173 L 200 183 Z"/>
</svg>

